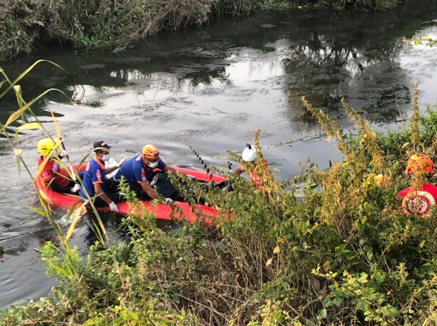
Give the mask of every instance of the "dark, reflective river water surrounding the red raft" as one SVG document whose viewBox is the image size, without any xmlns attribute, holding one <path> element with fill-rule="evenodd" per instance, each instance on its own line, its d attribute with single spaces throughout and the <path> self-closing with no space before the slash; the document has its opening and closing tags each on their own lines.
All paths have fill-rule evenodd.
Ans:
<svg viewBox="0 0 437 326">
<path fill-rule="evenodd" d="M 42 63 L 21 82 L 23 96 L 54 132 L 49 110 L 58 117 L 73 161 L 106 140 L 116 158 L 139 153 L 153 143 L 170 164 L 198 163 L 186 140 L 206 163 L 226 166 L 226 150 L 241 152 L 258 128 L 264 156 L 277 179 L 299 173 L 306 157 L 319 166 L 340 156 L 320 132 L 300 97 L 348 130 L 340 98 L 369 119 L 374 128 L 396 129 L 411 114 L 412 84 L 420 103 L 437 103 L 436 48 L 410 47 L 405 40 L 437 36 L 437 2 L 419 1 L 388 12 L 288 12 L 213 19 L 199 29 L 138 42 L 122 52 L 51 46 L 0 65 L 15 78 L 37 59 Z M 0 102 L 0 120 L 15 111 L 11 96 Z M 31 121 L 31 119 L 29 119 Z M 11 129 L 11 131 L 14 128 Z M 22 132 L 23 157 L 36 171 L 40 130 Z M 44 274 L 34 248 L 53 232 L 38 207 L 31 179 L 0 138 L 0 309 L 38 299 L 55 284 Z M 61 219 L 63 212 L 55 212 Z M 109 231 L 114 216 L 106 216 Z M 114 236 L 117 238 L 117 235 Z M 94 241 L 82 220 L 72 243 L 84 252 Z"/>
</svg>

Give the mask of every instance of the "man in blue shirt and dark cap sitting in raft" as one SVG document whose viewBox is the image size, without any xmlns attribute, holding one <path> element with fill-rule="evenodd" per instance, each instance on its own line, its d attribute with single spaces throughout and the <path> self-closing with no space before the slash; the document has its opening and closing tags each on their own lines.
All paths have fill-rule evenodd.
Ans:
<svg viewBox="0 0 437 326">
<path fill-rule="evenodd" d="M 111 211 L 118 212 L 116 202 L 121 198 L 118 193 L 105 193 L 105 174 L 118 169 L 127 159 L 122 159 L 116 166 L 105 168 L 105 162 L 110 159 L 109 148 L 111 147 L 103 141 L 94 143 L 93 147 L 96 155 L 86 165 L 82 180 L 85 189 L 81 189 L 79 195 L 84 199 L 99 195 L 94 199 L 95 207 L 109 206 Z"/>
</svg>

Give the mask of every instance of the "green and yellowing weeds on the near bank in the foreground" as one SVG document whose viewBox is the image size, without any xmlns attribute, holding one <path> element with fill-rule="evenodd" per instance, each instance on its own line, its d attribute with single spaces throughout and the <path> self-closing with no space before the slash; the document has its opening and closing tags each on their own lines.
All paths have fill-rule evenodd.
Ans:
<svg viewBox="0 0 437 326">
<path fill-rule="evenodd" d="M 21 160 L 18 136 L 5 127 L 32 111 L 13 87 L 19 78 L 3 76 L 19 108 L 1 128 Z M 403 175 L 410 154 L 435 159 L 437 106 L 420 117 L 415 88 L 410 125 L 381 134 L 342 101 L 355 124 L 351 136 L 302 102 L 344 159 L 327 169 L 308 162 L 302 176 L 277 182 L 258 155 L 246 166 L 261 176 L 256 188 L 236 176 L 231 193 L 193 183 L 187 201 L 205 198 L 221 213 L 214 230 L 198 223 L 164 232 L 143 212 L 124 219 L 125 240 L 114 244 L 95 211 L 97 240 L 82 257 L 68 244 L 78 214 L 69 212 L 64 234 L 40 198 L 43 210 L 34 210 L 58 237 L 41 256 L 59 283 L 46 298 L 2 311 L 0 324 L 435 325 L 436 209 L 407 215 L 396 196 L 424 179 Z"/>
</svg>

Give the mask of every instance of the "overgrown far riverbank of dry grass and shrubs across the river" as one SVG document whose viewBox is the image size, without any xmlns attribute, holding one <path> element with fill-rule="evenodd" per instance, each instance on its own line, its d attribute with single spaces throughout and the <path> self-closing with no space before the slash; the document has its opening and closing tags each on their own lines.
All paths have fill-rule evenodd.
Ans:
<svg viewBox="0 0 437 326">
<path fill-rule="evenodd" d="M 397 0 L 355 1 L 355 8 L 387 9 Z M 212 16 L 247 15 L 258 10 L 351 6 L 348 1 L 317 0 L 44 0 L 7 1 L 0 9 L 0 59 L 28 53 L 48 43 L 80 49 L 125 49 L 129 42 L 198 26 Z"/>
</svg>

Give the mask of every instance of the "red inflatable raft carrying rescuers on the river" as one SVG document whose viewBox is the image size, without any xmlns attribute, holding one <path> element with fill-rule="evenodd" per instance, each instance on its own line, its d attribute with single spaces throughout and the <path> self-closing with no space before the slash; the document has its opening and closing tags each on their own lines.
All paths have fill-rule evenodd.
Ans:
<svg viewBox="0 0 437 326">
<path fill-rule="evenodd" d="M 74 164 L 73 167 L 77 170 L 78 164 Z M 86 164 L 82 164 L 79 168 L 79 171 L 83 171 L 86 167 Z M 206 172 L 182 168 L 178 166 L 173 166 L 176 170 L 182 171 L 190 176 L 195 177 L 197 180 L 209 182 L 211 181 L 211 174 L 208 174 Z M 67 172 L 64 171 L 67 175 Z M 222 182 L 225 178 L 213 175 L 212 180 L 214 182 L 219 183 Z M 46 187 L 46 184 L 44 181 L 42 181 L 41 178 L 35 178 L 35 185 L 38 189 L 39 194 L 44 198 L 46 202 L 48 202 L 51 206 L 59 207 L 61 209 L 70 209 L 73 207 L 73 205 L 76 204 L 78 206 L 78 198 L 74 196 L 68 196 L 65 194 L 60 194 L 57 192 L 54 192 L 51 190 L 50 187 Z M 218 212 L 212 209 L 211 207 L 196 204 L 194 207 L 190 207 L 188 203 L 185 202 L 179 202 L 174 201 L 173 205 L 177 206 L 178 209 L 175 213 L 173 213 L 173 218 L 171 217 L 172 211 L 171 207 L 167 204 L 158 203 L 155 204 L 151 201 L 143 201 L 140 200 L 138 202 L 138 205 L 142 205 L 142 207 L 147 212 L 152 212 L 156 215 L 157 219 L 160 220 L 183 220 L 186 219 L 188 222 L 196 222 L 201 221 L 203 217 L 201 216 L 206 215 L 210 217 L 214 217 L 218 215 Z M 122 215 L 127 215 L 128 213 L 132 212 L 133 210 L 138 210 L 137 212 L 140 212 L 140 207 L 131 209 L 129 205 L 126 202 L 120 202 L 117 203 L 118 211 Z M 79 207 L 79 206 L 78 206 Z M 101 211 L 109 211 L 109 207 L 105 208 L 99 208 Z M 215 222 L 213 219 L 206 217 L 205 224 L 207 225 L 214 225 Z"/>
</svg>

